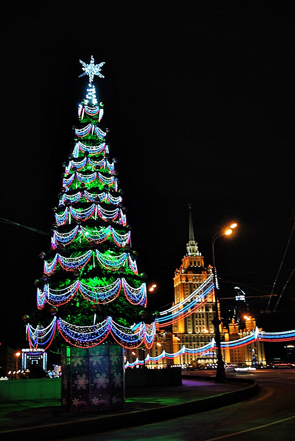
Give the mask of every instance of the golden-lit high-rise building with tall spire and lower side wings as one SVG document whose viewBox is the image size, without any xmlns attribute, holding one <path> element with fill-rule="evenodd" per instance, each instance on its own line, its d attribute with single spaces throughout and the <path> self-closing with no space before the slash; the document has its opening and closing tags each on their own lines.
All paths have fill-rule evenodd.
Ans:
<svg viewBox="0 0 295 441">
<path fill-rule="evenodd" d="M 198 249 L 198 243 L 194 239 L 194 228 L 191 214 L 191 205 L 189 204 L 189 232 L 186 254 L 183 256 L 182 264 L 176 268 L 174 275 L 174 305 L 183 307 L 183 301 L 196 290 L 213 272 L 212 265 L 205 267 L 204 257 Z M 235 288 L 235 305 L 228 309 L 226 321 L 227 327 L 220 324 L 221 341 L 232 341 L 243 338 L 252 333 L 256 328 L 256 321 L 247 311 L 245 293 L 238 287 Z M 169 354 L 177 353 L 183 345 L 186 348 L 200 348 L 215 339 L 215 327 L 212 320 L 215 317 L 215 295 L 209 294 L 206 303 L 200 305 L 200 308 L 188 315 L 179 318 L 171 328 L 158 328 L 153 347 L 149 350 L 151 357 L 158 357 L 163 350 Z M 218 318 L 220 319 L 220 303 L 218 304 Z M 246 314 L 247 313 L 247 314 Z M 246 314 L 246 315 L 245 315 Z M 228 328 L 228 329 L 227 329 Z M 262 330 L 262 329 L 260 329 Z M 150 368 L 161 368 L 169 365 L 181 365 L 183 367 L 207 367 L 215 366 L 217 363 L 216 348 L 212 351 L 206 351 L 198 354 L 182 353 L 173 358 L 160 358 L 156 363 L 147 361 L 146 365 Z M 253 352 L 254 351 L 254 352 Z M 180 351 L 181 352 L 181 351 Z M 127 350 L 127 359 L 134 363 L 138 358 L 140 360 L 146 356 L 142 349 Z M 256 341 L 249 345 L 234 348 L 221 349 L 222 357 L 225 363 L 247 363 L 251 366 L 253 356 L 256 357 L 258 364 L 265 364 L 265 352 L 263 342 Z M 254 355 L 253 355 L 254 353 Z"/>
</svg>

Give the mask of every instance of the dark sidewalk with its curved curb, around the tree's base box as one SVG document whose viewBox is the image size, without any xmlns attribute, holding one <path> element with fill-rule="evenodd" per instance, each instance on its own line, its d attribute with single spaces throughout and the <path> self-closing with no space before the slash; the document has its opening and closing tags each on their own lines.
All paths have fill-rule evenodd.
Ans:
<svg viewBox="0 0 295 441">
<path fill-rule="evenodd" d="M 125 409 L 101 415 L 63 413 L 59 400 L 3 403 L 0 437 L 56 440 L 208 411 L 254 395 L 258 385 L 249 381 L 229 379 L 226 383 L 215 383 L 208 377 L 192 379 L 183 375 L 181 386 L 127 388 Z"/>
</svg>

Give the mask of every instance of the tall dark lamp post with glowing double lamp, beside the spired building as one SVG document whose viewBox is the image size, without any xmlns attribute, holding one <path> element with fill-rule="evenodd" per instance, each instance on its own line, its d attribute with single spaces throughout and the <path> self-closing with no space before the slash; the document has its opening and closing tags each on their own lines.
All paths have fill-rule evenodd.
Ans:
<svg viewBox="0 0 295 441">
<path fill-rule="evenodd" d="M 214 274 L 214 279 L 213 279 L 213 283 L 214 283 L 214 292 L 215 292 L 215 318 L 212 320 L 213 325 L 215 326 L 215 341 L 216 341 L 216 346 L 217 346 L 217 370 L 216 370 L 216 381 L 225 381 L 226 380 L 226 375 L 225 375 L 225 370 L 224 370 L 224 361 L 222 359 L 222 354 L 221 354 L 221 345 L 220 345 L 220 330 L 219 330 L 219 325 L 221 323 L 221 321 L 218 318 L 218 281 L 217 281 L 217 273 L 216 273 L 216 266 L 215 266 L 215 254 L 214 254 L 214 243 L 216 241 L 216 239 L 218 239 L 221 236 L 224 235 L 230 235 L 232 234 L 232 228 L 235 228 L 237 226 L 237 224 L 232 224 L 230 225 L 228 228 L 225 228 L 224 230 L 216 233 L 213 238 L 212 238 L 212 257 L 213 257 L 213 274 Z"/>
</svg>

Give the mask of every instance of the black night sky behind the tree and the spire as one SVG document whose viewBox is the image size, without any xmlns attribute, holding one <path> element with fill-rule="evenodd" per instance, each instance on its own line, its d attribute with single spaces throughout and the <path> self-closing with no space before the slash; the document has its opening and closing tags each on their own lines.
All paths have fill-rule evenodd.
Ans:
<svg viewBox="0 0 295 441">
<path fill-rule="evenodd" d="M 294 224 L 293 2 L 27 2 L 2 23 L 1 217 L 50 232 L 71 125 L 85 97 L 79 59 L 95 77 L 125 190 L 139 271 L 158 285 L 151 310 L 174 298 L 188 241 L 188 203 L 205 265 L 216 242 L 221 297 L 239 286 L 258 326 L 295 328 L 295 276 L 265 311 Z M 293 212 L 293 214 L 292 214 Z M 0 341 L 20 348 L 36 307 L 38 254 L 50 238 L 2 223 Z M 275 294 L 295 265 L 291 238 Z M 257 296 L 250 297 L 250 296 Z M 273 297 L 270 311 L 278 297 Z M 260 315 L 259 315 L 260 314 Z M 268 347 L 281 353 L 284 344 Z"/>
</svg>

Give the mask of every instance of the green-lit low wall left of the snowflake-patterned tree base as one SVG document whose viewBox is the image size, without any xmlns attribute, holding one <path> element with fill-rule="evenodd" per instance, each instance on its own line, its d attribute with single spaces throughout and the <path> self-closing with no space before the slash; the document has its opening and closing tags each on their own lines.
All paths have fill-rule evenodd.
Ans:
<svg viewBox="0 0 295 441">
<path fill-rule="evenodd" d="M 60 400 L 60 378 L 26 378 L 0 381 L 0 402 Z"/>
</svg>

